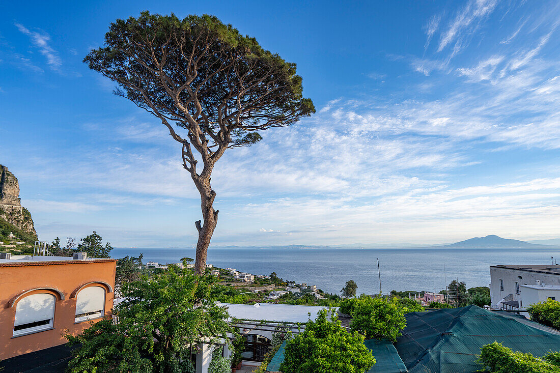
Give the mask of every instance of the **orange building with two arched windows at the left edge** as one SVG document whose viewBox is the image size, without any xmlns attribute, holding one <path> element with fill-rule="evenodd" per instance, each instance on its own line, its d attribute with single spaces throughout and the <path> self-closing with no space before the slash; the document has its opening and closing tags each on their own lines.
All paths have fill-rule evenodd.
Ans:
<svg viewBox="0 0 560 373">
<path fill-rule="evenodd" d="M 66 331 L 110 316 L 115 268 L 115 259 L 0 259 L 0 360 L 59 346 Z"/>
</svg>

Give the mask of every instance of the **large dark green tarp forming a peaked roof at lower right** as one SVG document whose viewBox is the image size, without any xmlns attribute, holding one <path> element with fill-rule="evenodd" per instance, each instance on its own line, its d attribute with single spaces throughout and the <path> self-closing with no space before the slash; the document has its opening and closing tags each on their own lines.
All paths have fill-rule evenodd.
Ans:
<svg viewBox="0 0 560 373">
<path fill-rule="evenodd" d="M 514 351 L 544 356 L 560 351 L 557 330 L 477 306 L 414 312 L 396 342 L 410 373 L 464 373 L 482 368 L 480 347 L 494 341 Z"/>
</svg>

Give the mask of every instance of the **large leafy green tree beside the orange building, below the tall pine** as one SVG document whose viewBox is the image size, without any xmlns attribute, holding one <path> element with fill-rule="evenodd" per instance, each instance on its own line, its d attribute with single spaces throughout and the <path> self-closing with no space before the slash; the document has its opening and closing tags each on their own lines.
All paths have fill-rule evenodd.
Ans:
<svg viewBox="0 0 560 373">
<path fill-rule="evenodd" d="M 201 339 L 226 338 L 226 309 L 216 304 L 216 278 L 171 265 L 167 271 L 124 282 L 115 306 L 119 323 L 102 320 L 81 335 L 66 335 L 79 346 L 70 373 L 190 370 L 188 346 Z"/>
</svg>

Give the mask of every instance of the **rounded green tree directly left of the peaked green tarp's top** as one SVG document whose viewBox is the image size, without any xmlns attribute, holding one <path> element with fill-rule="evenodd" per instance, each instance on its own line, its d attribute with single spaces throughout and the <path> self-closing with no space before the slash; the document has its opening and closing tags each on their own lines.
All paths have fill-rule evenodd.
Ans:
<svg viewBox="0 0 560 373">
<path fill-rule="evenodd" d="M 400 331 L 407 326 L 404 318 L 405 309 L 398 301 L 391 297 L 386 300 L 381 297 L 361 296 L 352 313 L 350 327 L 366 335 L 366 338 L 386 339 L 395 342 L 400 337 Z"/>
</svg>

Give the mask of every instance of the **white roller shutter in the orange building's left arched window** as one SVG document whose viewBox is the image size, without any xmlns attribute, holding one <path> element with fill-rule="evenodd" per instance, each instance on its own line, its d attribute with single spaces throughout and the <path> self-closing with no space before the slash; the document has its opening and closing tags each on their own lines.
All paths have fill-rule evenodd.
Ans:
<svg viewBox="0 0 560 373">
<path fill-rule="evenodd" d="M 49 325 L 52 325 L 56 300 L 54 295 L 48 293 L 32 294 L 21 299 L 16 305 L 14 327 L 44 320 L 50 320 Z M 21 332 L 24 331 L 24 329 L 21 330 Z"/>
</svg>

